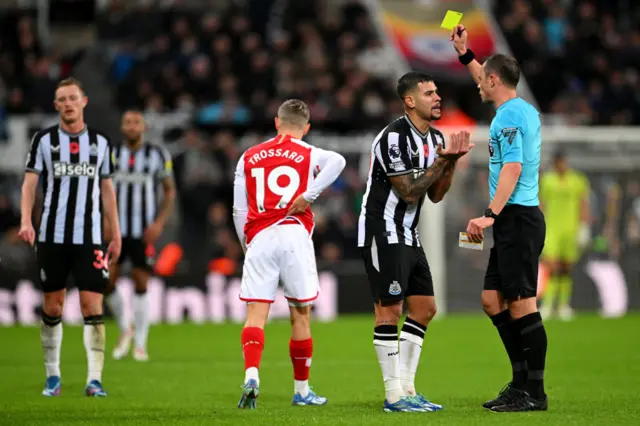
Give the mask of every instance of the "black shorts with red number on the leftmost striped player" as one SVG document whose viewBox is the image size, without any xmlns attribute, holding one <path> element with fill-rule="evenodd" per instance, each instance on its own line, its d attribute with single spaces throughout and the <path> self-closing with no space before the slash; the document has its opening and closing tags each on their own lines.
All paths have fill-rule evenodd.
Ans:
<svg viewBox="0 0 640 426">
<path fill-rule="evenodd" d="M 42 291 L 67 287 L 69 276 L 80 291 L 104 293 L 109 282 L 109 265 L 102 245 L 38 243 L 38 269 Z"/>
</svg>

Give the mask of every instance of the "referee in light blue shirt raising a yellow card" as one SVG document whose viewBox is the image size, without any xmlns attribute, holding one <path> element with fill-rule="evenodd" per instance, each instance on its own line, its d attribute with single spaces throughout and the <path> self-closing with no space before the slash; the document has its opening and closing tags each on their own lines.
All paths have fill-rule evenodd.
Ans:
<svg viewBox="0 0 640 426">
<path fill-rule="evenodd" d="M 467 49 L 467 36 L 464 26 L 458 25 L 451 34 L 454 48 L 478 84 L 483 102 L 496 107 L 489 130 L 491 202 L 482 217 L 469 222 L 467 233 L 479 242 L 484 229 L 493 226 L 482 305 L 498 329 L 513 373 L 509 385 L 484 407 L 496 412 L 544 411 L 547 334 L 536 305 L 546 232 L 538 207 L 540 117 L 516 93 L 517 61 L 498 54 L 481 65 Z"/>
</svg>

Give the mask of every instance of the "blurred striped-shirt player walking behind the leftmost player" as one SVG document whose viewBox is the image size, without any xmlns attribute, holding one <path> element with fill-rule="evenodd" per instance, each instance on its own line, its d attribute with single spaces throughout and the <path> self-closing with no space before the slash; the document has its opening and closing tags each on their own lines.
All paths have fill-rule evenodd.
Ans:
<svg viewBox="0 0 640 426">
<path fill-rule="evenodd" d="M 142 113 L 127 111 L 122 116 L 121 130 L 125 141 L 114 149 L 114 182 L 122 231 L 122 254 L 118 264 L 111 268 L 106 292 L 107 304 L 120 328 L 120 338 L 113 350 L 113 357 L 125 357 L 133 338 L 133 358 L 136 361 L 149 359 L 147 283 L 153 271 L 153 243 L 164 229 L 176 194 L 171 156 L 165 149 L 143 139 L 145 128 Z M 163 191 L 161 203 L 158 203 L 158 184 L 161 184 Z M 133 266 L 131 278 L 135 284 L 133 333 L 124 313 L 122 296 L 116 291 L 120 266 L 127 259 Z"/>
</svg>

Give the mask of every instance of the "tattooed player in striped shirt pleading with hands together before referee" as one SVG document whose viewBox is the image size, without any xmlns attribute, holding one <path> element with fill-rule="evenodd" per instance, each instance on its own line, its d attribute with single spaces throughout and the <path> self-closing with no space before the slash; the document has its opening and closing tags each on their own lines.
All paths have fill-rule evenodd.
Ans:
<svg viewBox="0 0 640 426">
<path fill-rule="evenodd" d="M 384 410 L 428 412 L 442 406 L 417 393 L 414 384 L 427 324 L 436 312 L 418 220 L 425 196 L 442 200 L 457 159 L 472 146 L 467 132 L 452 135 L 445 146 L 442 133 L 431 127 L 441 114 L 433 78 L 405 74 L 398 81 L 398 95 L 406 114 L 385 127 L 371 147 L 358 245 L 375 304 L 373 344 L 384 378 Z M 405 300 L 409 314 L 398 344 Z"/>
</svg>

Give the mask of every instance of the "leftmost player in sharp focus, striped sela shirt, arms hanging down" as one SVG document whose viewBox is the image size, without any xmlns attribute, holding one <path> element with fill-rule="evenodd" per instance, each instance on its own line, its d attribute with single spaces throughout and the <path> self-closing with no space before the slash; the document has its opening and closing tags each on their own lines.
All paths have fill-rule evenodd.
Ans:
<svg viewBox="0 0 640 426">
<path fill-rule="evenodd" d="M 33 137 L 22 186 L 20 236 L 32 245 L 37 240 L 44 292 L 40 339 L 47 373 L 42 391 L 45 396 L 60 394 L 61 318 L 69 275 L 80 291 L 84 316 L 89 367 L 85 394 L 107 396 L 101 384 L 105 345 L 102 295 L 109 278 L 109 263 L 120 255 L 121 237 L 111 182 L 110 142 L 86 127 L 86 105 L 87 97 L 79 81 L 66 79 L 58 84 L 54 106 L 60 124 Z M 36 236 L 31 215 L 39 179 L 44 182 L 45 198 Z M 103 213 L 113 233 L 106 252 Z"/>
</svg>

